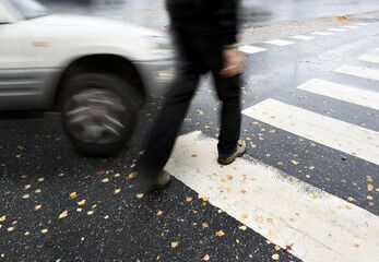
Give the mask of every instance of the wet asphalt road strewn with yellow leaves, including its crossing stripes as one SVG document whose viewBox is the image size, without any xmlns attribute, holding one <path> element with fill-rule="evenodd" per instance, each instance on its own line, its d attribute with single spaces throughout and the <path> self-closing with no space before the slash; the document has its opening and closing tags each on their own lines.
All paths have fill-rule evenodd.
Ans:
<svg viewBox="0 0 379 262">
<path fill-rule="evenodd" d="M 58 115 L 2 115 L 0 261 L 377 261 L 378 19 L 245 43 L 247 155 L 226 170 L 199 159 L 218 131 L 204 78 L 159 194 L 129 176 L 157 104 L 109 159 L 79 155 Z"/>
</svg>

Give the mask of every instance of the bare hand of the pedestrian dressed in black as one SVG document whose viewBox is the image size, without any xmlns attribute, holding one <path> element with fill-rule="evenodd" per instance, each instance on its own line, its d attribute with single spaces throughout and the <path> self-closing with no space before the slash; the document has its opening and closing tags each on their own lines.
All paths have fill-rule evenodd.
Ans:
<svg viewBox="0 0 379 262">
<path fill-rule="evenodd" d="M 225 64 L 221 71 L 222 75 L 232 78 L 242 72 L 244 57 L 237 48 L 225 49 L 223 55 Z"/>
</svg>

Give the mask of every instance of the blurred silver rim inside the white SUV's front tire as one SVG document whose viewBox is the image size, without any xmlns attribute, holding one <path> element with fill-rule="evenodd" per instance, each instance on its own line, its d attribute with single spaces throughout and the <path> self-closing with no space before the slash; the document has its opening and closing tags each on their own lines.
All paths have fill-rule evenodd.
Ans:
<svg viewBox="0 0 379 262">
<path fill-rule="evenodd" d="M 85 143 L 115 143 L 128 129 L 128 109 L 110 91 L 81 91 L 68 99 L 64 108 L 69 132 Z"/>
</svg>

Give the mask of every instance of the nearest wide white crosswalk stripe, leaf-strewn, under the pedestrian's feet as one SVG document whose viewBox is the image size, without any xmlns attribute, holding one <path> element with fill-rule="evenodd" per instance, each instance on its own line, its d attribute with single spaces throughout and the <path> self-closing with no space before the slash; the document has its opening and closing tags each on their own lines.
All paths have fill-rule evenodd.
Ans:
<svg viewBox="0 0 379 262">
<path fill-rule="evenodd" d="M 180 136 L 166 170 L 303 261 L 379 261 L 378 216 L 252 159 L 221 167 L 216 143 Z"/>
</svg>

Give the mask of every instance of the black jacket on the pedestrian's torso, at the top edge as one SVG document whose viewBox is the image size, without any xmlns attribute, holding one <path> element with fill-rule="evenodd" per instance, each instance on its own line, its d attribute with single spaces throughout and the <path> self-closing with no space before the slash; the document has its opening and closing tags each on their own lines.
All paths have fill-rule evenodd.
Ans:
<svg viewBox="0 0 379 262">
<path fill-rule="evenodd" d="M 166 0 L 174 31 L 193 32 L 221 45 L 237 41 L 239 0 Z"/>
</svg>

